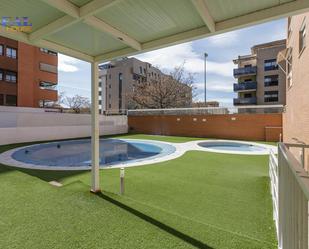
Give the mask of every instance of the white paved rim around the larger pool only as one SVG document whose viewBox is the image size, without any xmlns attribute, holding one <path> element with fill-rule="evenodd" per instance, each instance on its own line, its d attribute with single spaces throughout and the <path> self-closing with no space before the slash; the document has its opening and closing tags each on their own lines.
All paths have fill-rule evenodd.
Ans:
<svg viewBox="0 0 309 249">
<path fill-rule="evenodd" d="M 85 141 L 87 139 L 76 139 L 76 140 L 64 140 L 64 141 Z M 173 143 L 168 143 L 168 142 L 161 142 L 161 141 L 156 141 L 156 140 L 143 140 L 143 139 L 121 139 L 117 138 L 117 140 L 122 140 L 122 141 L 132 141 L 132 142 L 141 142 L 141 143 L 151 143 L 153 145 L 158 145 L 160 144 L 166 144 L 175 147 L 175 151 L 167 154 L 160 156 L 160 154 L 151 156 L 148 158 L 143 158 L 143 159 L 137 159 L 137 160 L 132 160 L 132 161 L 127 161 L 127 162 L 120 162 L 120 163 L 114 163 L 114 164 L 109 164 L 109 165 L 100 165 L 101 169 L 110 169 L 110 168 L 122 168 L 122 167 L 134 167 L 134 166 L 141 166 L 141 165 L 147 165 L 147 164 L 154 164 L 154 163 L 159 163 L 159 162 L 164 162 L 168 160 L 172 160 L 174 158 L 180 157 L 183 155 L 184 151 L 180 150 L 179 148 L 176 148 L 175 144 Z M 51 170 L 51 171 L 77 171 L 77 170 L 90 170 L 90 166 L 48 166 L 48 165 L 39 165 L 39 164 L 31 164 L 31 163 L 26 163 L 22 161 L 15 160 L 13 158 L 13 154 L 16 151 L 26 149 L 26 148 L 31 148 L 33 146 L 37 146 L 38 144 L 55 144 L 59 143 L 61 141 L 57 142 L 47 142 L 47 143 L 37 143 L 37 144 L 32 144 L 32 145 L 27 145 L 27 146 L 22 146 L 22 147 L 17 147 L 12 150 L 5 151 L 0 154 L 0 163 L 12 166 L 12 167 L 18 167 L 18 168 L 26 168 L 26 169 L 38 169 L 38 170 Z"/>
</svg>

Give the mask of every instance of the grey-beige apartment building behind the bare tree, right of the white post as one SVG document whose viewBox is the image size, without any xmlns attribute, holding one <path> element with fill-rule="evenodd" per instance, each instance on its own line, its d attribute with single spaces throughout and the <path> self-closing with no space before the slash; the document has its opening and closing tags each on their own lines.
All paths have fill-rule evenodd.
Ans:
<svg viewBox="0 0 309 249">
<path fill-rule="evenodd" d="M 119 112 L 134 108 L 129 95 L 141 82 L 159 80 L 164 74 L 148 62 L 136 58 L 122 58 L 99 66 L 100 112 Z M 188 88 L 191 94 L 191 88 Z M 192 95 L 192 94 L 191 94 Z"/>
</svg>

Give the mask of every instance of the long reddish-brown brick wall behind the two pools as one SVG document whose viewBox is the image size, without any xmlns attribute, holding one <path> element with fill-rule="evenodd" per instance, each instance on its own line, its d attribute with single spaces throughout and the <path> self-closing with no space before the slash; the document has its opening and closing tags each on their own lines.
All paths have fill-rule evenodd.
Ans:
<svg viewBox="0 0 309 249">
<path fill-rule="evenodd" d="M 279 141 L 282 114 L 129 116 L 131 132 L 205 138 Z"/>
</svg>

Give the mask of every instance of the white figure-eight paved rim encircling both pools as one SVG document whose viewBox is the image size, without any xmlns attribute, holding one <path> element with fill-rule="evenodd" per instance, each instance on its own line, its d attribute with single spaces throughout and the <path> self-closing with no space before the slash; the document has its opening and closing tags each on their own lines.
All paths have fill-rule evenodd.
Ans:
<svg viewBox="0 0 309 249">
<path fill-rule="evenodd" d="M 118 138 L 117 138 L 118 139 Z M 77 140 L 65 140 L 65 141 L 84 141 L 85 139 L 77 139 Z M 159 157 L 159 155 L 151 156 L 144 159 L 138 159 L 133 161 L 127 161 L 127 162 L 121 162 L 117 164 L 111 164 L 111 165 L 101 165 L 101 169 L 114 169 L 114 168 L 123 168 L 123 167 L 135 167 L 135 166 L 143 166 L 143 165 L 150 165 L 150 164 L 156 164 L 160 162 L 169 161 L 175 158 L 178 158 L 185 154 L 187 151 L 204 151 L 204 152 L 214 152 L 214 153 L 224 153 L 224 154 L 239 154 L 239 155 L 267 155 L 269 154 L 269 151 L 272 150 L 275 154 L 277 154 L 277 147 L 273 145 L 267 145 L 262 143 L 256 143 L 256 142 L 246 142 L 246 141 L 239 141 L 239 140 L 222 140 L 222 139 L 207 139 L 207 140 L 195 140 L 185 143 L 170 143 L 170 142 L 164 142 L 164 141 L 157 141 L 157 140 L 146 140 L 146 139 L 121 139 L 122 141 L 134 141 L 134 142 L 145 142 L 145 143 L 151 143 L 151 144 L 167 144 L 172 145 L 175 147 L 175 151 L 171 154 L 164 155 Z M 59 141 L 58 141 L 59 142 Z M 54 144 L 58 142 L 47 142 L 47 143 L 41 143 L 41 144 Z M 267 151 L 226 151 L 226 150 L 217 150 L 217 149 L 210 149 L 201 147 L 199 143 L 204 142 L 236 142 L 236 143 L 243 143 L 243 144 L 250 144 L 250 145 L 256 145 L 259 147 L 264 147 L 267 149 Z M 76 166 L 76 167 L 68 167 L 68 166 L 47 166 L 47 165 L 35 165 L 30 163 L 25 163 L 21 161 L 15 160 L 12 155 L 21 149 L 30 148 L 32 146 L 36 146 L 40 143 L 33 144 L 33 145 L 27 145 L 23 147 L 17 147 L 12 150 L 5 151 L 0 154 L 0 163 L 12 166 L 12 167 L 18 167 L 18 168 L 26 168 L 26 169 L 38 169 L 38 170 L 51 170 L 51 171 L 77 171 L 77 170 L 90 170 L 91 167 L 89 166 Z"/>
</svg>

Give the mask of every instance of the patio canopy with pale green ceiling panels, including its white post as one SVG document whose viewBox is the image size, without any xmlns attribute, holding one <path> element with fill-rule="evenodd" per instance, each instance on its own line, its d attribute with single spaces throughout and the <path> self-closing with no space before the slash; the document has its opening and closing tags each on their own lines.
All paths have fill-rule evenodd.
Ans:
<svg viewBox="0 0 309 249">
<path fill-rule="evenodd" d="M 91 191 L 100 192 L 99 63 L 308 10 L 308 0 L 1 0 L 0 35 L 91 63 Z"/>
</svg>

